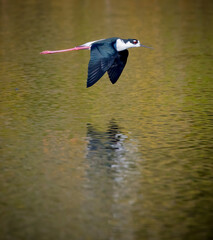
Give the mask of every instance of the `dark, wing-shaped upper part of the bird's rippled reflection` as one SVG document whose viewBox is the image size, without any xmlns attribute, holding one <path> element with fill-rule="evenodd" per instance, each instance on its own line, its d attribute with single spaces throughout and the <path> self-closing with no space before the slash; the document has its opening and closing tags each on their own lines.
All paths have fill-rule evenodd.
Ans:
<svg viewBox="0 0 213 240">
<path fill-rule="evenodd" d="M 125 160 L 127 136 L 121 132 L 115 120 L 110 121 L 106 132 L 97 131 L 87 124 L 87 139 L 87 159 L 91 163 L 113 167 L 115 163 Z"/>
</svg>

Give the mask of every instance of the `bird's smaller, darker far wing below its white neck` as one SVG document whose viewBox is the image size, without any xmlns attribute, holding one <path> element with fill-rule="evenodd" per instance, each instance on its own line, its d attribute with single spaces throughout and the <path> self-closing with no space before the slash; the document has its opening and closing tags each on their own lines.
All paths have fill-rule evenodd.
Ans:
<svg viewBox="0 0 213 240">
<path fill-rule="evenodd" d="M 112 84 L 116 83 L 118 78 L 120 77 L 128 58 L 129 52 L 128 50 L 118 52 L 116 58 L 112 66 L 108 69 L 109 79 Z"/>
</svg>

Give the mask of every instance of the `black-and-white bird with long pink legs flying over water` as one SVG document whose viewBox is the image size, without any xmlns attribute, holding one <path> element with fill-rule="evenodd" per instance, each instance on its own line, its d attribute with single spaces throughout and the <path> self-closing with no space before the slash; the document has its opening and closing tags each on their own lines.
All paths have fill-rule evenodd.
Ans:
<svg viewBox="0 0 213 240">
<path fill-rule="evenodd" d="M 145 47 L 137 39 L 122 39 L 112 37 L 84 43 L 74 48 L 43 51 L 40 54 L 53 54 L 74 50 L 90 50 L 90 61 L 88 64 L 87 88 L 93 86 L 106 72 L 112 84 L 119 79 L 126 65 L 129 55 L 128 48 Z"/>
</svg>

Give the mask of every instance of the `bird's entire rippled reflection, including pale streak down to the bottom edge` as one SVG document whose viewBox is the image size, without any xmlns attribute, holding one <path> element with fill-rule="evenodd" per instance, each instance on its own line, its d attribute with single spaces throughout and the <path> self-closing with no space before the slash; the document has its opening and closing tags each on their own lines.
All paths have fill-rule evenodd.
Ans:
<svg viewBox="0 0 213 240">
<path fill-rule="evenodd" d="M 87 169 L 82 212 L 91 216 L 86 226 L 106 239 L 133 239 L 129 226 L 137 201 L 140 168 L 135 141 L 129 139 L 115 120 L 105 131 L 87 125 Z M 113 225 L 117 233 L 111 231 Z M 96 227 L 94 227 L 96 226 Z M 97 237 L 97 236 L 96 236 Z"/>
</svg>

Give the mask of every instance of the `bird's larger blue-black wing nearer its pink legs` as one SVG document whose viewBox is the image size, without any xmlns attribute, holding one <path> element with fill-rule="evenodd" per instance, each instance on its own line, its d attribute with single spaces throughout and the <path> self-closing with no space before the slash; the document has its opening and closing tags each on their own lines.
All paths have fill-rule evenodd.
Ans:
<svg viewBox="0 0 213 240">
<path fill-rule="evenodd" d="M 111 43 L 94 43 L 91 46 L 87 87 L 95 84 L 112 66 L 117 51 Z"/>
</svg>

